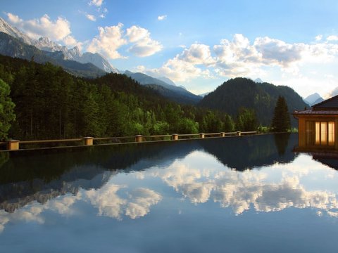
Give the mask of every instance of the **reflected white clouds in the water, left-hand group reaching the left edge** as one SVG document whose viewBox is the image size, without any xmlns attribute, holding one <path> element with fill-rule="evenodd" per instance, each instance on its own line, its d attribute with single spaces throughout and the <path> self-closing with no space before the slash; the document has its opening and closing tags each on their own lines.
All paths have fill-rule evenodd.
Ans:
<svg viewBox="0 0 338 253">
<path fill-rule="evenodd" d="M 125 190 L 127 197 L 123 198 L 118 192 Z M 15 209 L 13 213 L 0 210 L 0 233 L 4 231 L 6 223 L 37 222 L 44 223 L 44 211 L 49 210 L 70 216 L 75 214 L 73 205 L 78 201 L 89 202 L 99 209 L 100 216 L 108 216 L 122 219 L 125 214 L 131 219 L 137 219 L 149 213 L 150 207 L 161 200 L 161 195 L 147 188 L 134 188 L 128 193 L 127 186 L 106 184 L 99 189 L 79 190 L 77 195 L 61 195 L 52 200 L 47 200 L 44 205 L 31 202 L 21 209 Z"/>
</svg>

